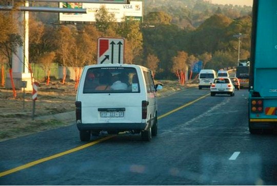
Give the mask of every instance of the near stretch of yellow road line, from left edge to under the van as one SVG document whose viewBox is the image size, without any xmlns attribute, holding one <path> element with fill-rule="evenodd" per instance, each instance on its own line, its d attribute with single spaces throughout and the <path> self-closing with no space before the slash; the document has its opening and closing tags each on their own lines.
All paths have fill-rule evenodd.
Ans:
<svg viewBox="0 0 277 186">
<path fill-rule="evenodd" d="M 62 152 L 62 153 L 58 153 L 58 154 L 55 154 L 55 155 L 52 155 L 52 156 L 49 156 L 49 157 L 46 157 L 46 158 L 42 158 L 42 159 L 39 159 L 39 160 L 36 160 L 36 161 L 32 161 L 30 163 L 27 163 L 27 164 L 24 164 L 24 165 L 21 165 L 21 166 L 17 166 L 17 168 L 13 168 L 13 169 L 10 169 L 8 171 L 0 173 L 0 177 L 6 176 L 8 174 L 12 174 L 14 172 L 17 172 L 17 171 L 20 171 L 20 170 L 23 170 L 23 169 L 30 168 L 31 166 L 34 166 L 34 165 L 39 164 L 39 163 L 43 163 L 45 161 L 48 161 L 48 160 L 51 160 L 51 159 L 54 159 L 54 158 L 58 158 L 58 157 L 61 157 L 61 156 L 64 156 L 64 155 L 67 155 L 67 154 L 70 154 L 70 153 L 74 153 L 76 151 L 80 151 L 83 148 L 92 146 L 96 143 L 100 143 L 101 141 L 108 140 L 112 137 L 114 137 L 114 135 L 113 136 L 108 136 L 108 137 L 105 137 L 105 138 L 102 138 L 102 139 L 99 139 L 99 140 L 96 140 L 96 141 L 93 141 L 93 142 L 90 142 L 90 143 L 87 143 L 87 144 L 84 144 L 82 146 L 78 146 L 76 148 L 72 148 L 71 150 L 68 150 L 68 151 L 65 151 L 65 152 Z"/>
</svg>

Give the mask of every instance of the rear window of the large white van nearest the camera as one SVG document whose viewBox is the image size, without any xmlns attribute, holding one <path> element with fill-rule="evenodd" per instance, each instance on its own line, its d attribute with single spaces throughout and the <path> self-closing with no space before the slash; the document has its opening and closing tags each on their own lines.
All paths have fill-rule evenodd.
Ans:
<svg viewBox="0 0 277 186">
<path fill-rule="evenodd" d="M 84 94 L 135 92 L 140 92 L 140 83 L 135 68 L 98 67 L 87 70 Z"/>
</svg>

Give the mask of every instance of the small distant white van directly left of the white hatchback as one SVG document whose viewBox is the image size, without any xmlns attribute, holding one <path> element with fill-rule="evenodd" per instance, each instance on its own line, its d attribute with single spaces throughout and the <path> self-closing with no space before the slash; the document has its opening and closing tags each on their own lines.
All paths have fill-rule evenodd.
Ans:
<svg viewBox="0 0 277 186">
<path fill-rule="evenodd" d="M 202 69 L 199 72 L 199 89 L 210 88 L 213 79 L 216 78 L 216 72 L 212 69 Z"/>
</svg>

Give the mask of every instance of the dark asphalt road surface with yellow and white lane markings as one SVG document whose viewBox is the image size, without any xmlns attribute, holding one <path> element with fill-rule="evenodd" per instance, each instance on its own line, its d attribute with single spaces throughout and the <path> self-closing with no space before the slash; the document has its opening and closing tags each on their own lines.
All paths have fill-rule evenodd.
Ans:
<svg viewBox="0 0 277 186">
<path fill-rule="evenodd" d="M 192 87 L 159 99 L 151 142 L 128 134 L 85 143 L 74 124 L 1 142 L 0 184 L 276 185 L 277 136 L 248 132 L 248 90 L 208 94 Z"/>
</svg>

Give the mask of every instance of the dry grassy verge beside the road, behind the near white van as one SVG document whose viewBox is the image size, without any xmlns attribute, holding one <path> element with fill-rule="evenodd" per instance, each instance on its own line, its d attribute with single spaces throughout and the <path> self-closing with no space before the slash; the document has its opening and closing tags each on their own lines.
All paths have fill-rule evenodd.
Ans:
<svg viewBox="0 0 277 186">
<path fill-rule="evenodd" d="M 164 80 L 163 89 L 158 91 L 158 96 L 165 95 L 168 91 L 184 89 L 195 84 L 181 85 L 177 81 Z M 39 131 L 68 125 L 66 120 L 39 120 L 38 116 L 48 116 L 75 110 L 74 82 L 62 85 L 56 81 L 49 86 L 39 84 L 38 99 L 35 101 L 35 117 L 32 119 L 33 100 L 32 92 L 16 91 L 17 97 L 13 98 L 12 90 L 0 88 L 0 141 L 29 135 Z M 23 102 L 24 109 L 23 109 Z"/>
</svg>

